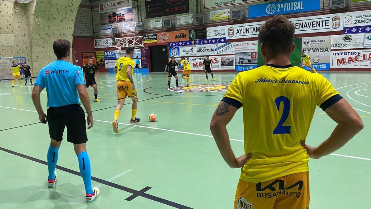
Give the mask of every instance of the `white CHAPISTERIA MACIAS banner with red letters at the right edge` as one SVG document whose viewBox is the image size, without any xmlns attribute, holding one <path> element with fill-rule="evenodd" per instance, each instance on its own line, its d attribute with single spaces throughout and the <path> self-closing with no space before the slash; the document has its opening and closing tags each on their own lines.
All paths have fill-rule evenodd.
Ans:
<svg viewBox="0 0 371 209">
<path fill-rule="evenodd" d="M 331 68 L 370 68 L 371 50 L 331 52 Z"/>
</svg>

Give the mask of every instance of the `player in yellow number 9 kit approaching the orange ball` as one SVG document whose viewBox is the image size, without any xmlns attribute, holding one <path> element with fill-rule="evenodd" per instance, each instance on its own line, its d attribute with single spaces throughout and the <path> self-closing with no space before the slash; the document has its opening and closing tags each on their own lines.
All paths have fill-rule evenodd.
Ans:
<svg viewBox="0 0 371 209">
<path fill-rule="evenodd" d="M 133 69 L 135 66 L 134 61 L 131 59 L 134 55 L 134 48 L 126 48 L 126 55 L 117 60 L 114 73 L 116 73 L 117 82 L 117 101 L 118 105 L 114 114 L 114 121 L 112 127 L 115 133 L 118 133 L 118 118 L 120 110 L 124 105 L 125 98 L 128 96 L 133 101 L 131 105 L 131 120 L 130 123 L 139 123 L 140 118 L 135 118 L 137 114 L 138 97 L 137 90 L 135 89 L 133 81 Z"/>
</svg>

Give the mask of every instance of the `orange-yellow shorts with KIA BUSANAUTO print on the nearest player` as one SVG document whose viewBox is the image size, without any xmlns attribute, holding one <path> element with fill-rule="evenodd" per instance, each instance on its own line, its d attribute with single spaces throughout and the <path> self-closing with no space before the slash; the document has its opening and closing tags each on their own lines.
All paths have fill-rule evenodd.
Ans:
<svg viewBox="0 0 371 209">
<path fill-rule="evenodd" d="M 260 183 L 240 179 L 234 209 L 308 209 L 309 199 L 308 171 Z"/>
</svg>

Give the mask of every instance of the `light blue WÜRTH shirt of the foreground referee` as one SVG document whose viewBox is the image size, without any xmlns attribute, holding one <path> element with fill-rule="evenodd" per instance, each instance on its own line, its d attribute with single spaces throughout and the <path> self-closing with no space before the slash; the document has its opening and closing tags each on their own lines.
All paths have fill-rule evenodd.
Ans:
<svg viewBox="0 0 371 209">
<path fill-rule="evenodd" d="M 43 67 L 35 82 L 35 86 L 46 88 L 48 107 L 81 105 L 77 92 L 79 84 L 85 85 L 81 67 L 65 60 L 57 60 Z"/>
</svg>

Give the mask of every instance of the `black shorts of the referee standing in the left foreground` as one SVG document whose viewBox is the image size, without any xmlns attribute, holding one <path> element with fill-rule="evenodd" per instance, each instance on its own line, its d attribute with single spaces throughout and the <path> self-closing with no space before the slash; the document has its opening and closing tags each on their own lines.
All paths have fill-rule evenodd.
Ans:
<svg viewBox="0 0 371 209">
<path fill-rule="evenodd" d="M 73 144 L 82 144 L 88 141 L 86 136 L 85 113 L 80 105 L 49 107 L 47 122 L 50 138 L 62 141 L 65 126 L 67 127 L 67 141 Z"/>
</svg>

